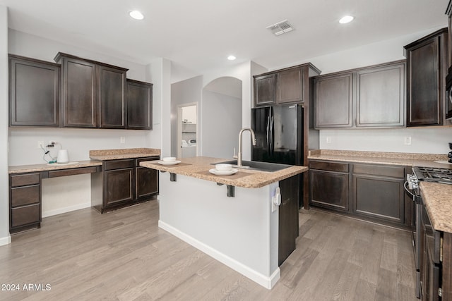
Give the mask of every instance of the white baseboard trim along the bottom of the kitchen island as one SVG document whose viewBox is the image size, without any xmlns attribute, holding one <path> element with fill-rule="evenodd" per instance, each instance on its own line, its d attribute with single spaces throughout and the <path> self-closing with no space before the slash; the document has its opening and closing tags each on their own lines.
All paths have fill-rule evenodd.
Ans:
<svg viewBox="0 0 452 301">
<path fill-rule="evenodd" d="M 245 266 L 244 264 L 237 262 L 237 260 L 232 259 L 231 257 L 223 254 L 222 252 L 213 249 L 212 247 L 204 244 L 203 242 L 196 240 L 190 235 L 187 235 L 186 233 L 179 231 L 177 228 L 170 226 L 164 221 L 159 220 L 158 226 L 159 228 L 168 231 L 177 238 L 184 240 L 184 242 L 187 242 L 190 245 L 196 247 L 196 249 L 201 250 L 202 252 L 208 254 L 210 257 L 217 259 L 222 264 L 226 264 L 231 269 L 234 269 L 243 276 L 250 278 L 252 281 L 258 283 L 259 285 L 262 285 L 264 288 L 267 288 L 268 290 L 273 288 L 273 285 L 275 285 L 275 283 L 277 283 L 278 280 L 280 279 L 281 271 L 279 267 L 275 269 L 275 271 L 273 271 L 273 274 L 271 274 L 270 276 L 265 276 L 261 273 L 258 273 L 257 271 L 254 271 L 254 269 L 250 269 L 248 266 Z"/>
</svg>

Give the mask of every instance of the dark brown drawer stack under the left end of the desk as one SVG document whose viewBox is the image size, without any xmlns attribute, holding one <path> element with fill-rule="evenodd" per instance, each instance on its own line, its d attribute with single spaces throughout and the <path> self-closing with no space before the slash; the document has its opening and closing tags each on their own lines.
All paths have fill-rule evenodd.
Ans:
<svg viewBox="0 0 452 301">
<path fill-rule="evenodd" d="M 9 231 L 16 233 L 41 226 L 40 173 L 9 176 Z"/>
</svg>

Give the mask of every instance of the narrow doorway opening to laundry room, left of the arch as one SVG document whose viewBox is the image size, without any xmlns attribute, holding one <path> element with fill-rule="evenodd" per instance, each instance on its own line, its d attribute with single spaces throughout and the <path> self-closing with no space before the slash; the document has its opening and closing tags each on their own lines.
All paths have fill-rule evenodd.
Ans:
<svg viewBox="0 0 452 301">
<path fill-rule="evenodd" d="M 198 156 L 198 102 L 177 106 L 177 157 Z"/>
</svg>

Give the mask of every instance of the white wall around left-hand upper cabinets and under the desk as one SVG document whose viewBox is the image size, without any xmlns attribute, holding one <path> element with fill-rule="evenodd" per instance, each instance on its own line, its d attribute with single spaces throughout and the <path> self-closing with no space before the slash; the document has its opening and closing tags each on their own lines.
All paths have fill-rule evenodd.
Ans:
<svg viewBox="0 0 452 301">
<path fill-rule="evenodd" d="M 3 18 L 1 20 L 4 20 Z M 43 61 L 53 61 L 57 53 L 64 52 L 85 59 L 109 63 L 114 66 L 129 68 L 127 78 L 153 82 L 153 130 L 107 130 L 107 129 L 73 129 L 73 128 L 9 128 L 9 158 L 8 164 L 44 164 L 43 152 L 37 149 L 37 141 L 50 140 L 61 143 L 69 151 L 71 161 L 89 159 L 91 149 L 123 149 L 135 147 L 161 148 L 162 135 L 162 95 L 165 85 L 162 81 L 163 59 L 150 62 L 147 66 L 131 61 L 100 54 L 88 49 L 64 44 L 35 35 L 28 35 L 16 30 L 8 30 L 7 52 L 27 56 Z M 6 37 L 6 36 L 5 36 Z M 1 70 L 8 70 L 2 68 Z M 169 81 L 168 81 L 169 82 Z M 169 84 L 168 84 L 169 85 Z M 6 86 L 7 87 L 7 86 Z M 1 91 L 6 91 L 7 88 Z M 6 98 L 7 99 L 7 98 Z M 7 101 L 5 101 L 7 104 Z M 2 110 L 3 111 L 3 110 Z M 8 110 L 5 109 L 4 112 Z M 2 118 L 6 123 L 8 118 Z M 6 127 L 7 128 L 7 127 Z M 126 142 L 120 143 L 120 137 Z M 4 144 L 6 145 L 6 143 Z M 59 145 L 53 151 L 57 154 Z M 5 182 L 7 183 L 7 182 Z M 64 202 L 61 202 L 64 199 Z M 42 181 L 42 216 L 50 216 L 65 211 L 90 206 L 90 175 L 69 176 L 45 179 Z"/>
</svg>

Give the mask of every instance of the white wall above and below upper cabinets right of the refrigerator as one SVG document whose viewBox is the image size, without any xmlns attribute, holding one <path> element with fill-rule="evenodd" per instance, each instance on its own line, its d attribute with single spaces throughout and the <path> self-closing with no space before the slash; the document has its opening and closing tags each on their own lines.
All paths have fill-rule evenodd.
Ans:
<svg viewBox="0 0 452 301">
<path fill-rule="evenodd" d="M 322 70 L 322 74 L 326 74 L 405 59 L 403 46 L 439 28 L 318 56 L 308 61 Z M 407 136 L 412 137 L 412 145 L 404 145 Z M 326 137 L 331 137 L 331 143 L 326 143 Z M 451 127 L 320 130 L 321 149 L 447 154 L 448 142 L 452 142 Z"/>
</svg>

